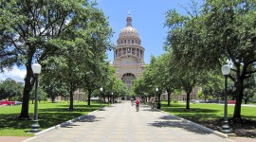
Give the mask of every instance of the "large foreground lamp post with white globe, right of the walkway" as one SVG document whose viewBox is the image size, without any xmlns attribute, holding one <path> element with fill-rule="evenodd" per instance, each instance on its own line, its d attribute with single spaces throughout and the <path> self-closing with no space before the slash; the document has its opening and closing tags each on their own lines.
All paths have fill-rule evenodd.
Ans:
<svg viewBox="0 0 256 142">
<path fill-rule="evenodd" d="M 227 97 L 227 88 L 228 88 L 228 77 L 230 73 L 229 64 L 225 64 L 221 67 L 222 74 L 225 77 L 225 105 L 224 105 L 224 122 L 222 126 L 223 133 L 231 133 L 231 129 L 229 128 L 229 120 L 228 120 L 228 97 Z"/>
</svg>

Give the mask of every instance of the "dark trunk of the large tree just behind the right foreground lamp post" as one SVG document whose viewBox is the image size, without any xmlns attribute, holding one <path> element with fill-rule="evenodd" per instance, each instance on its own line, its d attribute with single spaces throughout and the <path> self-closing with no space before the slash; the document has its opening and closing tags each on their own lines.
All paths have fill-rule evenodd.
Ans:
<svg viewBox="0 0 256 142">
<path fill-rule="evenodd" d="M 243 99 L 243 79 L 238 78 L 233 119 L 241 119 L 241 104 Z"/>
</svg>

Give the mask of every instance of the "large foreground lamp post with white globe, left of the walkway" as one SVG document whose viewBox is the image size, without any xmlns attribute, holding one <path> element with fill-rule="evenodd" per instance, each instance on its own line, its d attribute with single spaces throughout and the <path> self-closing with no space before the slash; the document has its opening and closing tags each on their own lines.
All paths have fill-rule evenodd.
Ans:
<svg viewBox="0 0 256 142">
<path fill-rule="evenodd" d="M 31 133 L 38 133 L 40 132 L 40 125 L 38 124 L 38 95 L 37 95 L 37 88 L 38 88 L 38 75 L 41 72 L 41 65 L 39 63 L 32 64 L 32 71 L 35 76 L 35 104 L 34 104 L 34 123 L 31 125 Z"/>
</svg>

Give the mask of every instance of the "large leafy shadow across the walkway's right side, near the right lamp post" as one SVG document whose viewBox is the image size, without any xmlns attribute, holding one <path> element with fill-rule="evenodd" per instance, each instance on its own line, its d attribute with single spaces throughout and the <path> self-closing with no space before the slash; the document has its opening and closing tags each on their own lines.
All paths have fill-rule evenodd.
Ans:
<svg viewBox="0 0 256 142">
<path fill-rule="evenodd" d="M 210 130 L 201 128 L 200 126 L 192 123 L 191 121 L 176 117 L 174 115 L 164 115 L 160 117 L 164 119 L 163 121 L 155 121 L 149 123 L 149 125 L 154 127 L 172 127 L 172 128 L 182 128 L 188 132 L 200 133 L 200 134 L 210 134 Z"/>
</svg>

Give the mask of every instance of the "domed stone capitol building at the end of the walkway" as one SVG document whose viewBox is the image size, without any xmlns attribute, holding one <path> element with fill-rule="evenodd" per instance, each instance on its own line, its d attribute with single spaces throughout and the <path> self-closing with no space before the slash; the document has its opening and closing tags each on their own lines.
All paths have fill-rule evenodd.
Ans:
<svg viewBox="0 0 256 142">
<path fill-rule="evenodd" d="M 144 47 L 141 45 L 137 29 L 132 25 L 132 17 L 128 14 L 126 27 L 119 33 L 117 45 L 114 47 L 116 76 L 131 90 L 133 80 L 137 79 L 145 69 Z"/>
</svg>

